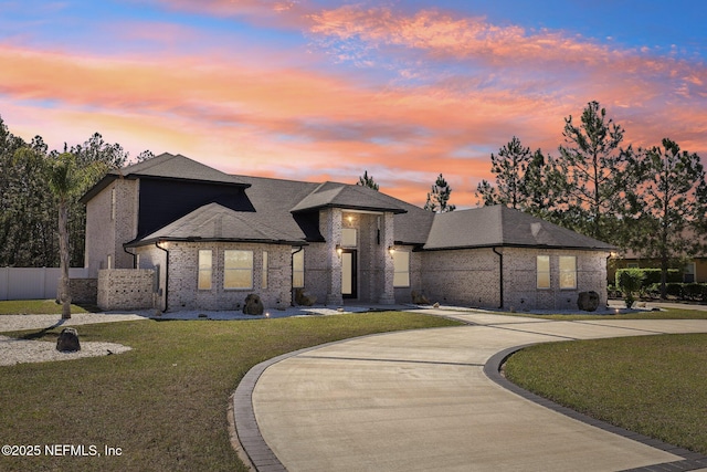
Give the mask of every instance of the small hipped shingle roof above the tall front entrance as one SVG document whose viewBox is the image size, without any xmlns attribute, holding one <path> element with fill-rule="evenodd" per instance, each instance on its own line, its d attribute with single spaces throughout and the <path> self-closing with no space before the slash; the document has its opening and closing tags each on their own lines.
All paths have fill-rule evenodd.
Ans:
<svg viewBox="0 0 707 472">
<path fill-rule="evenodd" d="M 324 182 L 292 208 L 293 212 L 319 208 L 344 208 L 348 210 L 392 211 L 404 213 L 400 200 L 363 186 Z"/>
</svg>

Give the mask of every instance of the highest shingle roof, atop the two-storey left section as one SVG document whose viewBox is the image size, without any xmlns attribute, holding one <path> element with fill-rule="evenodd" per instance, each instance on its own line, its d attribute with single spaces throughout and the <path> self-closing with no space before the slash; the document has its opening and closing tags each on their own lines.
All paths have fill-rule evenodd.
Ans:
<svg viewBox="0 0 707 472">
<path fill-rule="evenodd" d="M 196 160 L 180 154 L 175 156 L 169 153 L 163 153 L 141 162 L 110 170 L 98 183 L 96 183 L 81 198 L 81 201 L 84 203 L 87 202 L 115 179 L 135 179 L 140 177 L 207 181 L 242 188 L 250 187 L 247 183 L 239 180 L 236 176 L 224 174 L 213 167 L 197 162 Z"/>
</svg>

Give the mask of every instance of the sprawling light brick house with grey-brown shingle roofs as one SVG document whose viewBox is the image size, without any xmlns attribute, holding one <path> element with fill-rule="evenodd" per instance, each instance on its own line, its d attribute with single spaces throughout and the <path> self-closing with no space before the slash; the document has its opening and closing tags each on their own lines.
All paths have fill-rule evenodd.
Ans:
<svg viewBox="0 0 707 472">
<path fill-rule="evenodd" d="M 516 310 L 606 301 L 613 249 L 502 206 L 435 214 L 367 187 L 233 176 L 162 154 L 83 198 L 104 310 L 431 302 Z M 130 306 L 128 306 L 130 305 Z M 139 305 L 139 306 L 135 306 Z"/>
</svg>

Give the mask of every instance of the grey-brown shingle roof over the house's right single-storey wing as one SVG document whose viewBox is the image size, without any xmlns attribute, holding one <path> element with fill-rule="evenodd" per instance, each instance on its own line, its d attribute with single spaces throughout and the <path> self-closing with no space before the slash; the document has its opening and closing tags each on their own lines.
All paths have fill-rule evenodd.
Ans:
<svg viewBox="0 0 707 472">
<path fill-rule="evenodd" d="M 500 204 L 436 214 L 423 249 L 489 247 L 615 249 L 605 242 Z"/>
</svg>

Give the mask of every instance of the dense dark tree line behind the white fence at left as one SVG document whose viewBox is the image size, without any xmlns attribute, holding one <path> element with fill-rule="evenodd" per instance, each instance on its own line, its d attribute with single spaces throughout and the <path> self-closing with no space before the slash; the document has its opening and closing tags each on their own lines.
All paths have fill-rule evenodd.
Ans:
<svg viewBox="0 0 707 472">
<path fill-rule="evenodd" d="M 136 160 L 151 156 L 144 151 Z M 68 264 L 83 266 L 86 209 L 78 199 L 129 160 L 129 153 L 98 133 L 50 150 L 39 135 L 28 143 L 10 133 L 0 117 L 0 266 L 60 266 L 60 208 L 66 210 Z"/>
</svg>

